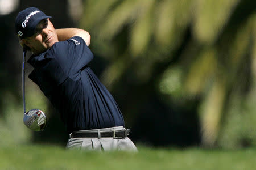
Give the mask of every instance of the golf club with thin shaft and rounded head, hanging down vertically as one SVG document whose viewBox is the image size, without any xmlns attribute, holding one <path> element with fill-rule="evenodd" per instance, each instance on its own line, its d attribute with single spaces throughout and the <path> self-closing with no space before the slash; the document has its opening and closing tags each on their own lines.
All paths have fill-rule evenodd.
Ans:
<svg viewBox="0 0 256 170">
<path fill-rule="evenodd" d="M 31 109 L 26 113 L 26 100 L 25 100 L 25 62 L 27 50 L 23 49 L 22 58 L 22 96 L 23 96 L 23 109 L 24 109 L 24 124 L 33 131 L 43 131 L 46 127 L 46 115 L 39 109 Z"/>
</svg>

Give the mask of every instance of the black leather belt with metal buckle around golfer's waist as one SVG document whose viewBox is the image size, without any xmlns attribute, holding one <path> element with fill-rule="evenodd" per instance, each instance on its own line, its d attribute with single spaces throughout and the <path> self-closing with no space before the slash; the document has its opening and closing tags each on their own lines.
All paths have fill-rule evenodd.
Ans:
<svg viewBox="0 0 256 170">
<path fill-rule="evenodd" d="M 122 139 L 129 135 L 130 129 L 112 130 L 112 131 L 73 131 L 71 138 L 114 138 Z"/>
</svg>

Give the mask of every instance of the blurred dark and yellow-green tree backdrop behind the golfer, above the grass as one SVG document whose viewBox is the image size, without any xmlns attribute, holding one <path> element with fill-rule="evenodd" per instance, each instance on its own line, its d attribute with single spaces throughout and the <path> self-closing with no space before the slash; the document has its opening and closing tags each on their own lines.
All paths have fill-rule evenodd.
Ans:
<svg viewBox="0 0 256 170">
<path fill-rule="evenodd" d="M 1 42 L 0 91 L 5 97 L 0 99 L 0 136 L 60 145 L 67 139 L 54 109 L 31 81 L 27 109 L 46 110 L 49 121 L 46 131 L 32 134 L 21 121 L 22 49 L 13 25 L 18 11 L 36 6 L 53 16 L 55 28 L 89 31 L 95 55 L 90 66 L 117 100 L 133 141 L 154 146 L 256 145 L 254 1 L 15 2 L 14 12 L 1 15 L 6 41 Z"/>
</svg>

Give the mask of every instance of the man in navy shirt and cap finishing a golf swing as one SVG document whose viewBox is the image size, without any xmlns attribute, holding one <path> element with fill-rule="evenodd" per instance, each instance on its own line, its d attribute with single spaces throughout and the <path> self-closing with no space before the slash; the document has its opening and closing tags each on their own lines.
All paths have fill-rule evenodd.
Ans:
<svg viewBox="0 0 256 170">
<path fill-rule="evenodd" d="M 67 128 L 67 148 L 137 151 L 127 137 L 129 129 L 124 128 L 117 103 L 88 67 L 93 59 L 89 33 L 78 28 L 55 29 L 49 18 L 29 7 L 19 12 L 15 28 L 24 51 L 32 52 L 27 62 L 34 70 L 28 77 L 51 101 Z M 39 124 L 44 114 L 36 111 Z M 24 123 L 29 124 L 31 118 L 26 118 Z"/>
</svg>

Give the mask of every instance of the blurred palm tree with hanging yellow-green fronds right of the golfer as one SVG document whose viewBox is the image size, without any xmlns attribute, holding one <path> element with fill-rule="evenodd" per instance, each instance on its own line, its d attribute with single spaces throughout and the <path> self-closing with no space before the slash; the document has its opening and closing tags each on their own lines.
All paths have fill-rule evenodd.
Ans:
<svg viewBox="0 0 256 170">
<path fill-rule="evenodd" d="M 90 31 L 94 53 L 109 61 L 101 78 L 110 90 L 132 73 L 135 86 L 150 82 L 166 103 L 186 107 L 200 99 L 204 146 L 256 141 L 249 133 L 256 127 L 246 125 L 255 121 L 255 3 L 90 0 L 84 6 L 81 27 Z M 236 124 L 242 130 L 230 135 Z"/>
</svg>

